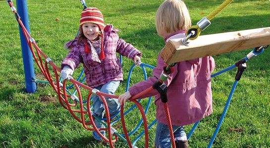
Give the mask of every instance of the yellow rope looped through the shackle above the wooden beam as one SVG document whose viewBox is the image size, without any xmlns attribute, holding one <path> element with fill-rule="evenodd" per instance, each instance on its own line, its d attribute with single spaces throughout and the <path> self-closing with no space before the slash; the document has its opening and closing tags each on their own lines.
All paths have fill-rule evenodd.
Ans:
<svg viewBox="0 0 270 148">
<path fill-rule="evenodd" d="M 210 21 L 211 19 L 213 19 L 217 13 L 219 13 L 220 11 L 222 11 L 227 5 L 229 5 L 233 0 L 225 0 L 221 5 L 219 5 L 213 12 L 211 12 L 206 18 Z M 190 29 L 197 29 L 197 34 L 195 37 L 190 37 L 189 39 L 193 40 L 193 39 L 196 39 L 197 37 L 200 36 L 202 30 L 201 28 L 199 28 L 198 25 L 193 25 L 191 27 L 189 27 L 187 30 L 186 30 L 186 36 L 188 36 L 188 31 Z"/>
</svg>

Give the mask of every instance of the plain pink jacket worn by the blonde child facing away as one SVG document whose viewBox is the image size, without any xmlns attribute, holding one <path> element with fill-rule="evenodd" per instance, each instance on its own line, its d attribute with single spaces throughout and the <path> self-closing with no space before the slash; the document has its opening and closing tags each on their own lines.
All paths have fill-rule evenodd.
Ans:
<svg viewBox="0 0 270 148">
<path fill-rule="evenodd" d="M 177 34 L 170 38 L 173 37 L 185 37 L 185 34 Z M 153 70 L 154 76 L 131 86 L 129 88 L 130 94 L 133 96 L 151 87 L 160 77 L 163 65 L 164 62 L 159 55 L 157 67 Z M 211 56 L 175 64 L 174 72 L 165 81 L 172 125 L 182 126 L 195 123 L 213 112 L 211 73 L 214 68 L 215 60 Z M 162 124 L 167 124 L 163 103 L 158 91 L 153 90 L 141 98 L 149 96 L 155 96 L 157 120 Z"/>
</svg>

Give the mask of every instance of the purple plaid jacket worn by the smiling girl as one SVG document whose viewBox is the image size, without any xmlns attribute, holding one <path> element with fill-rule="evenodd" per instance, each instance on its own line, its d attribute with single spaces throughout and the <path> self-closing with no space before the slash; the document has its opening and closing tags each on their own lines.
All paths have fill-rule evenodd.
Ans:
<svg viewBox="0 0 270 148">
<path fill-rule="evenodd" d="M 96 49 L 89 40 L 88 47 L 91 50 L 89 53 L 85 53 L 83 42 L 78 42 L 76 38 L 68 41 L 65 46 L 71 50 L 63 60 L 61 68 L 67 65 L 74 70 L 83 63 L 87 85 L 92 88 L 112 80 L 123 80 L 122 67 L 116 52 L 129 59 L 134 59 L 136 55 L 141 56 L 142 53 L 119 38 L 117 31 L 112 25 L 107 25 L 104 29 L 104 60 L 99 59 Z"/>
</svg>

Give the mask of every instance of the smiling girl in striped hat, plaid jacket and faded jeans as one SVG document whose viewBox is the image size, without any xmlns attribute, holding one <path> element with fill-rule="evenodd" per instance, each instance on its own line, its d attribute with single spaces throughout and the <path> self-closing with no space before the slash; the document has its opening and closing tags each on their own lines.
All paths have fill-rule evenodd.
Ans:
<svg viewBox="0 0 270 148">
<path fill-rule="evenodd" d="M 65 44 L 70 48 L 68 55 L 61 64 L 61 77 L 66 79 L 72 75 L 80 63 L 83 64 L 86 83 L 101 92 L 114 94 L 123 80 L 122 68 L 116 52 L 136 62 L 141 62 L 141 52 L 126 43 L 117 35 L 112 25 L 104 25 L 103 14 L 98 8 L 90 7 L 81 12 L 79 35 Z M 110 114 L 120 111 L 117 99 L 105 97 Z M 93 113 L 103 118 L 104 104 L 97 95 L 93 97 Z M 104 126 L 95 120 L 98 128 Z M 105 131 L 101 131 L 105 136 Z M 96 140 L 102 138 L 93 131 Z"/>
</svg>

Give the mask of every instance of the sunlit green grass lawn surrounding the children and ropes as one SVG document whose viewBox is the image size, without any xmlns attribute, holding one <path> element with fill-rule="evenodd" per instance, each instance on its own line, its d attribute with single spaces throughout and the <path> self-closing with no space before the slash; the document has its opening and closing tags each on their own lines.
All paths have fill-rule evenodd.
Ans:
<svg viewBox="0 0 270 148">
<path fill-rule="evenodd" d="M 223 0 L 185 0 L 193 24 L 211 13 Z M 100 8 L 106 24 L 120 30 L 119 36 L 143 52 L 142 61 L 156 66 L 156 57 L 164 46 L 155 27 L 155 13 L 162 0 L 86 0 L 88 6 Z M 42 51 L 59 66 L 66 56 L 63 44 L 74 38 L 82 6 L 79 0 L 27 0 L 31 36 Z M 15 1 L 14 1 L 14 5 Z M 269 27 L 269 0 L 234 0 L 211 22 L 202 34 Z M 18 24 L 4 0 L 0 0 L 0 148 L 108 148 L 97 143 L 91 131 L 83 128 L 57 101 L 48 84 L 38 84 L 36 93 L 25 92 Z M 55 19 L 58 21 L 55 21 Z M 252 49 L 214 56 L 215 72 L 222 70 Z M 229 109 L 215 139 L 214 148 L 269 148 L 270 147 L 270 52 L 247 62 L 247 70 L 238 82 Z M 124 92 L 131 60 L 124 58 L 125 80 L 116 94 Z M 80 67 L 81 68 L 81 67 Z M 77 70 L 75 76 L 80 70 Z M 191 148 L 206 148 L 224 108 L 234 82 L 236 69 L 212 79 L 214 113 L 201 120 L 190 138 Z M 151 70 L 147 70 L 151 75 Z M 42 80 L 35 64 L 35 73 Z M 135 68 L 131 83 L 143 79 L 140 68 Z M 75 77 L 74 76 L 74 77 Z M 86 98 L 85 90 L 83 91 Z M 145 107 L 147 100 L 142 100 Z M 132 103 L 126 105 L 126 109 Z M 138 123 L 139 111 L 133 110 L 126 118 L 131 131 Z M 77 114 L 79 116 L 79 114 Z M 155 105 L 147 114 L 148 124 L 155 119 Z M 118 123 L 117 123 L 118 124 Z M 186 126 L 188 132 L 191 126 Z M 230 129 L 239 129 L 230 130 Z M 122 133 L 121 127 L 117 130 Z M 142 131 L 142 128 L 139 129 Z M 135 133 L 135 135 L 138 132 Z M 155 127 L 149 130 L 149 144 L 154 145 Z M 134 140 L 134 136 L 131 137 Z M 144 137 L 137 147 L 144 147 Z M 115 148 L 127 148 L 118 140 Z"/>
</svg>

